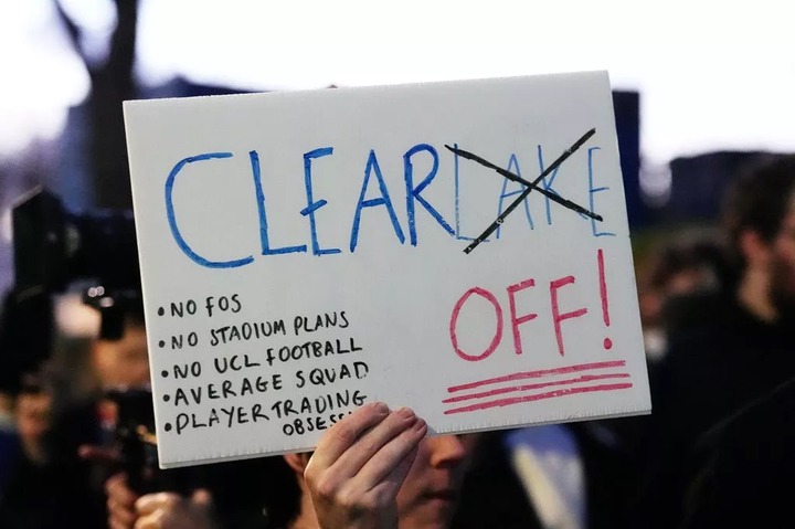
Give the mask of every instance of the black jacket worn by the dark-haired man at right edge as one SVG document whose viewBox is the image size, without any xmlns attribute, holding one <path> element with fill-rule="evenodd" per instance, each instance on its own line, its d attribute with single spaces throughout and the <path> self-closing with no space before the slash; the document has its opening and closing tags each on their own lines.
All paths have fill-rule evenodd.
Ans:
<svg viewBox="0 0 795 529">
<path fill-rule="evenodd" d="M 761 321 L 731 298 L 708 306 L 717 313 L 671 336 L 653 372 L 654 411 L 639 454 L 647 467 L 630 504 L 634 527 L 677 527 L 699 464 L 698 440 L 795 377 L 795 327 Z"/>
</svg>

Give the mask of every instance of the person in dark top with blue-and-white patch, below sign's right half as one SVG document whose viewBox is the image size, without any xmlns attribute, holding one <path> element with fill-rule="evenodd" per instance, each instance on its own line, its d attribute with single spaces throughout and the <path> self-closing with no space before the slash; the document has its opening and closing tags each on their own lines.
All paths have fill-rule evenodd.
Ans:
<svg viewBox="0 0 795 529">
<path fill-rule="evenodd" d="M 637 485 L 619 422 L 483 432 L 455 529 L 614 529 Z"/>
</svg>

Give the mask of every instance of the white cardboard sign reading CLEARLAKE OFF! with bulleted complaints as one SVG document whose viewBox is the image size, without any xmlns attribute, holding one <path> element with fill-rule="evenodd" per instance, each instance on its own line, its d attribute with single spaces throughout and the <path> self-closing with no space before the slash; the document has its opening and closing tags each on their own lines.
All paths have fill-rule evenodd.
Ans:
<svg viewBox="0 0 795 529">
<path fill-rule="evenodd" d="M 432 433 L 650 410 L 606 73 L 125 119 L 162 466 L 310 449 L 375 400 Z"/>
</svg>

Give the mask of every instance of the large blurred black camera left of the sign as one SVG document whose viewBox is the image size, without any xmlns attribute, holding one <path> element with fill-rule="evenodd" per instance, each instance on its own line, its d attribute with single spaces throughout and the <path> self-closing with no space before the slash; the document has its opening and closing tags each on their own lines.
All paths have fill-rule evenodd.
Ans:
<svg viewBox="0 0 795 529">
<path fill-rule="evenodd" d="M 129 211 L 68 212 L 44 188 L 11 210 L 14 284 L 0 321 L 0 387 L 14 391 L 22 373 L 50 358 L 55 336 L 53 294 L 92 282 L 84 300 L 102 314 L 102 336 L 119 338 L 125 306 L 140 303 L 135 221 Z"/>
</svg>

